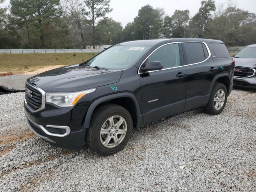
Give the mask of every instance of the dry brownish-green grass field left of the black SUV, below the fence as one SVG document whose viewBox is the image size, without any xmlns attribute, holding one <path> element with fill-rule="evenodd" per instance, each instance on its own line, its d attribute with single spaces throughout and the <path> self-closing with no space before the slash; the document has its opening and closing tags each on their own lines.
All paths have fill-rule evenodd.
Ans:
<svg viewBox="0 0 256 192">
<path fill-rule="evenodd" d="M 72 65 L 97 53 L 0 54 L 0 71 L 28 70 L 53 65 Z"/>
</svg>

